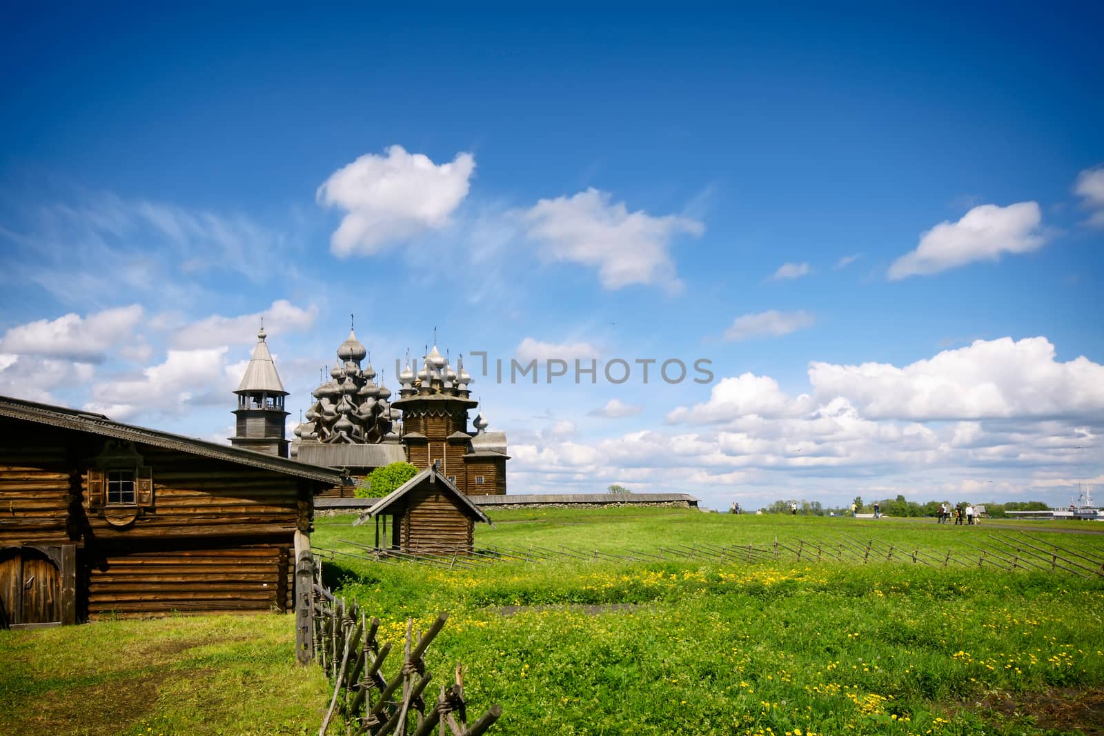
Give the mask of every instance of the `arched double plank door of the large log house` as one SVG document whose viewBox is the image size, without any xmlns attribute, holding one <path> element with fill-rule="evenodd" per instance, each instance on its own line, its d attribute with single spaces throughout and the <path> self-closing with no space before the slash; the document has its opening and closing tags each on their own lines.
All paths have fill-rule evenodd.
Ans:
<svg viewBox="0 0 1104 736">
<path fill-rule="evenodd" d="M 60 563 L 35 547 L 0 550 L 0 625 L 61 623 Z"/>
</svg>

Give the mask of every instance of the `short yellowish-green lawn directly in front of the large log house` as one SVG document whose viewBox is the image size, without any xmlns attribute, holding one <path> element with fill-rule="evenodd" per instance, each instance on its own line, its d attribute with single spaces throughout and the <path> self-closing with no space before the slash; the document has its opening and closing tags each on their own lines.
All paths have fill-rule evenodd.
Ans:
<svg viewBox="0 0 1104 736">
<path fill-rule="evenodd" d="M 282 615 L 0 631 L 0 733 L 317 733 L 328 686 Z"/>
</svg>

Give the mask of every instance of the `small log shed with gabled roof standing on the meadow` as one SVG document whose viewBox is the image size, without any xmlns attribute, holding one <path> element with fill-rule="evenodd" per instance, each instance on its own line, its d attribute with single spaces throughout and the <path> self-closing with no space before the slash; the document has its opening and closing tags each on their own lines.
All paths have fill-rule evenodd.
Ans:
<svg viewBox="0 0 1104 736">
<path fill-rule="evenodd" d="M 490 518 L 436 467 L 426 468 L 380 499 L 357 523 L 375 519 L 375 546 L 408 554 L 471 554 L 475 523 Z M 388 536 L 390 520 L 391 540 Z"/>
</svg>

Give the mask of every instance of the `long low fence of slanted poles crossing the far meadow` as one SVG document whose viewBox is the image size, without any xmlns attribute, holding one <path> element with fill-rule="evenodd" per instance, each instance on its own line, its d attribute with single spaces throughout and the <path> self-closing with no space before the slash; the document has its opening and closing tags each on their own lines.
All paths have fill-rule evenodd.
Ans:
<svg viewBox="0 0 1104 736">
<path fill-rule="evenodd" d="M 1052 542 L 1038 538 L 1026 532 L 1018 534 L 988 534 L 986 537 L 972 536 L 973 542 L 958 541 L 964 548 L 925 548 L 900 546 L 878 538 L 860 538 L 853 534 L 819 540 L 796 537 L 773 543 L 710 544 L 696 542 L 690 545 L 671 544 L 650 551 L 619 550 L 607 552 L 586 550 L 577 546 L 560 545 L 559 548 L 530 545 L 528 547 L 488 546 L 466 551 L 440 545 L 437 550 L 411 554 L 395 550 L 372 547 L 348 540 L 340 540 L 360 551 L 359 554 L 332 550 L 317 550 L 333 558 L 337 555 L 359 559 L 368 557 L 384 563 L 413 562 L 434 567 L 478 567 L 499 562 L 570 562 L 570 561 L 619 561 L 658 562 L 677 559 L 711 559 L 731 563 L 764 563 L 775 561 L 795 562 L 839 562 L 839 563 L 901 563 L 936 567 L 998 567 L 1006 570 L 1042 570 L 1048 573 L 1070 573 L 1085 578 L 1104 576 L 1104 548 L 1071 550 Z"/>
</svg>

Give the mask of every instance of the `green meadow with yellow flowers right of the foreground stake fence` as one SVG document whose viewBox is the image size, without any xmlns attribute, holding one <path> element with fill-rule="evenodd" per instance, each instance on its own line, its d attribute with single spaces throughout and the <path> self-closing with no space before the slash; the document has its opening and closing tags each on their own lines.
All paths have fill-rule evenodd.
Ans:
<svg viewBox="0 0 1104 736">
<path fill-rule="evenodd" d="M 1028 526 L 1071 550 L 1104 537 L 1053 522 L 954 527 L 911 521 L 619 509 L 500 512 L 477 545 L 618 553 L 711 542 L 827 541 L 969 551 Z M 355 554 L 374 530 L 320 520 L 318 546 Z M 1074 530 L 1085 530 L 1073 525 Z M 975 554 L 976 557 L 976 554 Z M 1021 734 L 1104 727 L 1101 579 L 902 564 L 543 562 L 474 569 L 336 555 L 339 593 L 449 623 L 431 670 L 460 661 L 498 733 Z"/>
</svg>

